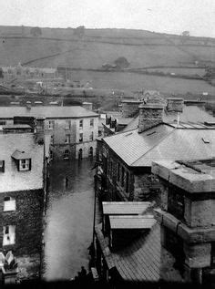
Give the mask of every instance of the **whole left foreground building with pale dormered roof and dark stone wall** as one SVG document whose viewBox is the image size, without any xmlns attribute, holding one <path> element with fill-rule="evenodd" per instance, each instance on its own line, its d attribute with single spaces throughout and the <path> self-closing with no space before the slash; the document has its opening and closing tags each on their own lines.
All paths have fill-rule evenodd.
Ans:
<svg viewBox="0 0 215 289">
<path fill-rule="evenodd" d="M 43 120 L 0 129 L 0 250 L 12 250 L 20 279 L 40 272 L 46 139 Z"/>
</svg>

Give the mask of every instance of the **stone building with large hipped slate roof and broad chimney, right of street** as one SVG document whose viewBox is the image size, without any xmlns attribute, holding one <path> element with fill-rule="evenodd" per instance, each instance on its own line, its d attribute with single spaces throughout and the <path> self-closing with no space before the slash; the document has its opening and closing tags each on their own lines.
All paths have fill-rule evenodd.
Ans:
<svg viewBox="0 0 215 289">
<path fill-rule="evenodd" d="M 99 140 L 97 193 L 106 201 L 159 200 L 153 160 L 195 160 L 214 156 L 215 127 L 164 123 L 159 104 L 141 105 L 138 129 Z"/>
</svg>

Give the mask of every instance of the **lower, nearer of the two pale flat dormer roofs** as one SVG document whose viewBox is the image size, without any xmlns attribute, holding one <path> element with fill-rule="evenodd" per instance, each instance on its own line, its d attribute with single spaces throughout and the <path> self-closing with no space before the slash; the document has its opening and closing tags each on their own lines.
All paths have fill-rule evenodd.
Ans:
<svg viewBox="0 0 215 289">
<path fill-rule="evenodd" d="M 151 229 L 156 223 L 153 215 L 109 216 L 110 228 L 113 229 Z"/>
</svg>

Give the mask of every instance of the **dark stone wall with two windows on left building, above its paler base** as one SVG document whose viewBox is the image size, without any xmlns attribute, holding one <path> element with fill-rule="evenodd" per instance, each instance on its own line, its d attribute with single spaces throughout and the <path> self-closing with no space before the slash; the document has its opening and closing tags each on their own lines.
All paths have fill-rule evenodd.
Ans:
<svg viewBox="0 0 215 289">
<path fill-rule="evenodd" d="M 4 198 L 15 198 L 15 211 L 4 212 Z M 15 256 L 39 253 L 42 240 L 44 192 L 13 191 L 0 194 L 0 246 Z M 3 246 L 3 226 L 15 225 L 15 244 Z"/>
</svg>

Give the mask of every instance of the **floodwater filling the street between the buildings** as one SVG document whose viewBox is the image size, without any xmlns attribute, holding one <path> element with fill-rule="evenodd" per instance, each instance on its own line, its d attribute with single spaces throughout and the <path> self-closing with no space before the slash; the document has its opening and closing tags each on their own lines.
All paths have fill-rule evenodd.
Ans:
<svg viewBox="0 0 215 289">
<path fill-rule="evenodd" d="M 47 195 L 45 273 L 47 281 L 68 280 L 88 269 L 93 238 L 94 173 L 92 160 L 53 162 Z"/>
</svg>

